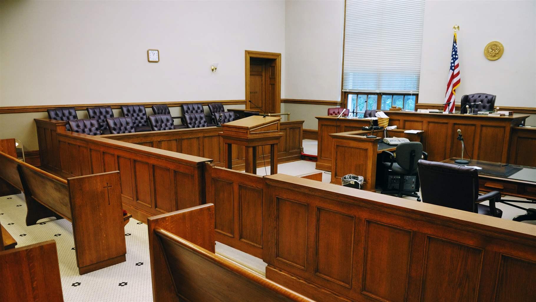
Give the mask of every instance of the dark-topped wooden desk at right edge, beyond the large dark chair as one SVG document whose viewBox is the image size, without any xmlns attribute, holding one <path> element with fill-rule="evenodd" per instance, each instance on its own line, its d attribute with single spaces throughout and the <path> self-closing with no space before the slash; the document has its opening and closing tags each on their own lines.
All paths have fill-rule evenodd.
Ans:
<svg viewBox="0 0 536 302">
<path fill-rule="evenodd" d="M 458 158 L 449 158 L 442 163 L 453 164 Z M 536 167 L 527 167 L 483 160 L 471 160 L 468 166 L 482 167 L 478 170 L 481 191 L 500 191 L 502 194 L 536 201 Z"/>
</svg>

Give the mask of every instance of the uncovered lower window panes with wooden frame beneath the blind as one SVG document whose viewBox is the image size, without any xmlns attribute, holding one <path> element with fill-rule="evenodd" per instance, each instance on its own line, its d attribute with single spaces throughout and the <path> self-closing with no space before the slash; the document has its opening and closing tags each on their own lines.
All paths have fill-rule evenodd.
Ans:
<svg viewBox="0 0 536 302">
<path fill-rule="evenodd" d="M 404 110 L 415 111 L 418 95 L 415 94 L 383 94 L 366 92 L 346 92 L 346 108 L 349 116 L 363 117 L 366 109 L 388 111 L 392 106 Z M 365 107 L 366 106 L 366 107 Z"/>
</svg>

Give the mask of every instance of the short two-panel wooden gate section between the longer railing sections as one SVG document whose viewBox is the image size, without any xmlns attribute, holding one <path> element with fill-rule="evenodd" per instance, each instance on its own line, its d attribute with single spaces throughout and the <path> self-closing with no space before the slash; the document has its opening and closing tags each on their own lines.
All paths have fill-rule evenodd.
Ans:
<svg viewBox="0 0 536 302">
<path fill-rule="evenodd" d="M 205 165 L 206 201 L 215 208 L 216 240 L 262 257 L 262 176 Z"/>
</svg>

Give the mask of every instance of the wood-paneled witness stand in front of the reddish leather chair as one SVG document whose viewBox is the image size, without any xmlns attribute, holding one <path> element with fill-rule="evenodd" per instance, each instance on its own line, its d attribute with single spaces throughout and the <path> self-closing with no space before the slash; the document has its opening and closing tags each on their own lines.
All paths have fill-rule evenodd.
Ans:
<svg viewBox="0 0 536 302">
<path fill-rule="evenodd" d="M 316 168 L 318 170 L 331 170 L 331 146 L 330 134 L 361 130 L 363 126 L 370 126 L 370 120 L 353 119 L 337 116 L 316 116 L 318 120 L 318 152 Z"/>
</svg>

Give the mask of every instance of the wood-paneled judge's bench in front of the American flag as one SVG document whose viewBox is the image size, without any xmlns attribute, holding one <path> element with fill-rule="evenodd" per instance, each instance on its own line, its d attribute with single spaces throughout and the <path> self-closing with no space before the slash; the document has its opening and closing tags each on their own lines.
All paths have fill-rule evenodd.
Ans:
<svg viewBox="0 0 536 302">
<path fill-rule="evenodd" d="M 390 126 L 425 130 L 422 144 L 428 152 L 429 160 L 441 161 L 460 157 L 461 144 L 456 139 L 456 130 L 461 129 L 465 149 L 473 159 L 501 163 L 507 163 L 509 160 L 513 128 L 528 117 L 521 114 L 488 116 L 404 111 L 385 111 L 385 114 L 390 118 Z"/>
</svg>

